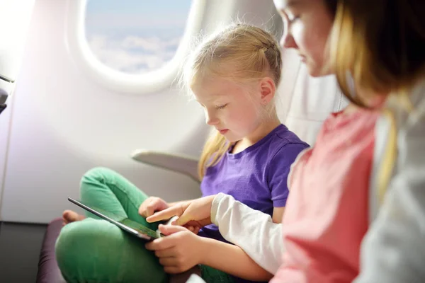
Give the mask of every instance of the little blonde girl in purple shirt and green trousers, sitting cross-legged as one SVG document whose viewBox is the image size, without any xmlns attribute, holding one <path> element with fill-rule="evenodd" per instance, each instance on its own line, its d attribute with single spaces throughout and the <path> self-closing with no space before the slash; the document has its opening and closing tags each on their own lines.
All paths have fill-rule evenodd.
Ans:
<svg viewBox="0 0 425 283">
<path fill-rule="evenodd" d="M 183 71 L 183 81 L 203 107 L 206 123 L 215 128 L 199 163 L 203 195 L 225 192 L 270 215 L 276 223 L 282 219 L 288 198 L 290 165 L 308 147 L 276 115 L 274 97 L 280 67 L 276 40 L 260 28 L 237 24 L 200 44 Z M 148 198 L 105 168 L 84 175 L 81 200 L 153 229 L 157 227 L 147 224 L 144 216 L 176 204 Z M 142 241 L 107 221 L 95 220 L 92 215 L 84 219 L 71 211 L 63 216 L 66 224 L 73 223 L 62 229 L 56 253 L 68 282 L 164 282 L 166 273 L 183 272 L 198 264 L 203 264 L 203 277 L 208 282 L 271 278 L 241 248 L 225 242 L 215 225 L 204 227 L 198 235 L 187 229 L 181 233 L 162 229 L 165 235 L 174 233 L 155 252 L 162 269 Z"/>
</svg>

